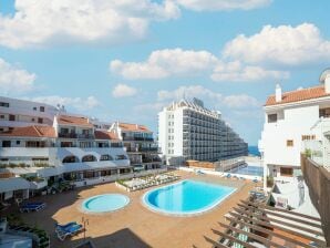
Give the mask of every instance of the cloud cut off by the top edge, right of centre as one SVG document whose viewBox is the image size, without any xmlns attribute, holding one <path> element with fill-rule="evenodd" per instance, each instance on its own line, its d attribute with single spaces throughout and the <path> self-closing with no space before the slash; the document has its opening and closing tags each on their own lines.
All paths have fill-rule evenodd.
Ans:
<svg viewBox="0 0 330 248">
<path fill-rule="evenodd" d="M 271 0 L 177 0 L 177 2 L 190 10 L 217 11 L 234 9 L 250 10 L 268 6 Z"/>
</svg>

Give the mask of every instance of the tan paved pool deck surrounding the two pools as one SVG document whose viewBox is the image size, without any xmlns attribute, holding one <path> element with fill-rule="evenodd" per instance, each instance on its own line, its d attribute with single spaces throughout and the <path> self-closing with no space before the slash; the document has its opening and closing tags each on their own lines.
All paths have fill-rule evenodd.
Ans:
<svg viewBox="0 0 330 248">
<path fill-rule="evenodd" d="M 175 172 L 182 179 L 194 178 L 204 182 L 219 183 L 238 189 L 212 210 L 193 217 L 173 217 L 148 210 L 142 204 L 145 192 L 125 192 L 114 183 L 78 188 L 72 192 L 53 196 L 41 196 L 31 202 L 44 202 L 48 207 L 38 213 L 21 214 L 30 225 L 44 228 L 51 237 L 51 247 L 72 248 L 83 241 L 83 232 L 60 241 L 54 234 L 54 224 L 59 221 L 81 223 L 82 217 L 89 219 L 86 239 L 92 239 L 96 247 L 146 248 L 146 247 L 212 247 L 204 236 L 216 239 L 212 228 L 220 229 L 218 221 L 226 221 L 224 215 L 239 199 L 245 199 L 255 184 L 250 180 L 225 179 L 218 176 Z M 153 187 L 154 188 L 154 187 Z M 83 214 L 80 205 L 83 199 L 106 193 L 122 193 L 130 197 L 131 203 L 123 209 L 109 214 Z"/>
</svg>

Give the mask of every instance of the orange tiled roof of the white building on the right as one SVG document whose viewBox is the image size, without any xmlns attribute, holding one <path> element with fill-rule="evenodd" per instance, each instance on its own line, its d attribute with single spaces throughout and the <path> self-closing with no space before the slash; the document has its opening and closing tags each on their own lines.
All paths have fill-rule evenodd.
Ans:
<svg viewBox="0 0 330 248">
<path fill-rule="evenodd" d="M 285 92 L 282 94 L 282 101 L 276 102 L 275 95 L 270 95 L 266 101 L 266 106 L 279 105 L 285 103 L 300 102 L 311 99 L 319 99 L 330 96 L 329 93 L 326 93 L 324 85 L 319 85 L 316 87 L 302 89 L 297 91 Z"/>
</svg>

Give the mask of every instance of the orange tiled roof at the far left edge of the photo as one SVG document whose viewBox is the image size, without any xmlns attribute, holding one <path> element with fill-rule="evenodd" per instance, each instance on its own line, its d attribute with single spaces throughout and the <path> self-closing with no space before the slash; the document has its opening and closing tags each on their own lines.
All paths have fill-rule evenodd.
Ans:
<svg viewBox="0 0 330 248">
<path fill-rule="evenodd" d="M 0 136 L 13 137 L 56 137 L 54 127 L 52 126 L 24 126 L 14 127 L 8 132 L 0 133 Z"/>
</svg>

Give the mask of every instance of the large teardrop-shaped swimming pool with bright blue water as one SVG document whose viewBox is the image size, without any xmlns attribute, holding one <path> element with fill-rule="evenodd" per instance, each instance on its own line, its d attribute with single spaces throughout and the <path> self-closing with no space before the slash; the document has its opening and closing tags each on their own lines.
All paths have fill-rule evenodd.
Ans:
<svg viewBox="0 0 330 248">
<path fill-rule="evenodd" d="M 147 192 L 143 202 L 156 211 L 193 215 L 209 210 L 234 190 L 236 188 L 197 180 L 183 180 Z"/>
</svg>

